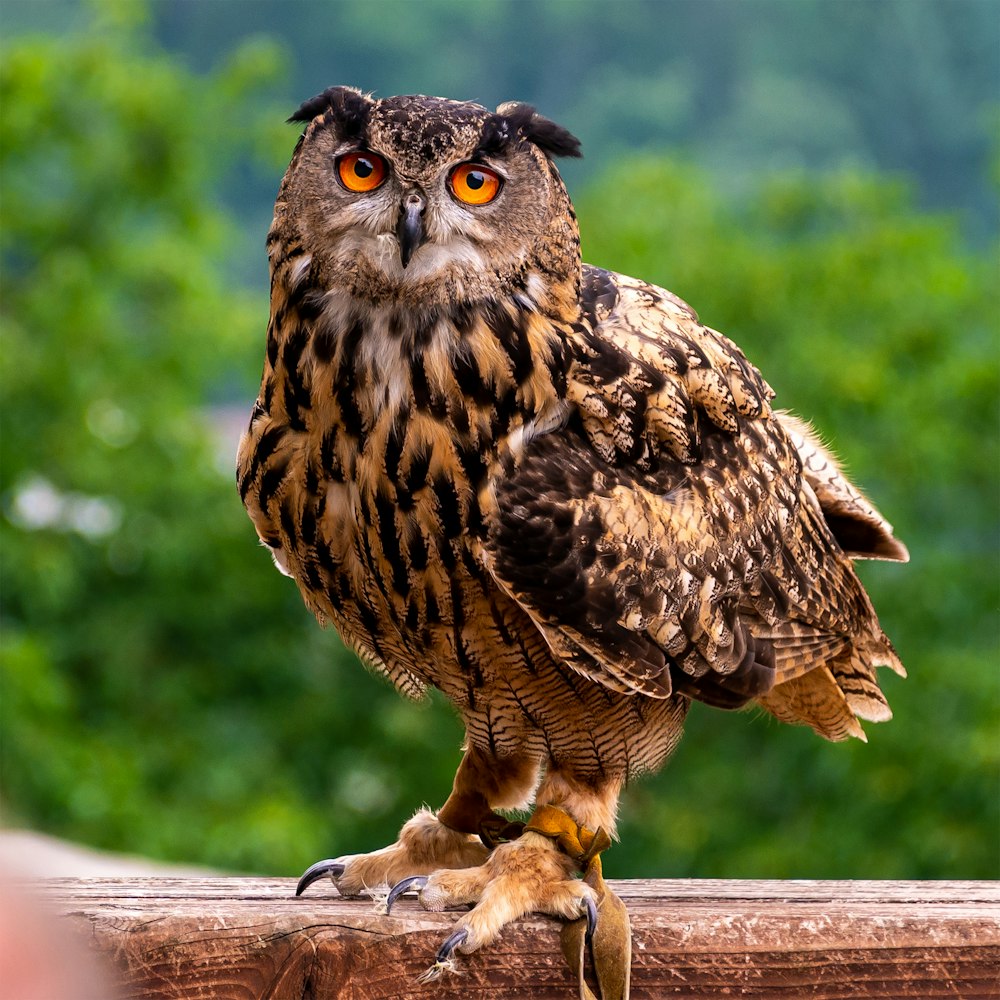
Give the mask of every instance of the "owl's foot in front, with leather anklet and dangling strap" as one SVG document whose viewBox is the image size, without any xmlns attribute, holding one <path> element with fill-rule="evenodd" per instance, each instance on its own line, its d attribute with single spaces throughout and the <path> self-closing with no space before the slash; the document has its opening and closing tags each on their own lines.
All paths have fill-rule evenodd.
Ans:
<svg viewBox="0 0 1000 1000">
<path fill-rule="evenodd" d="M 584 959 L 593 960 L 603 1000 L 624 1000 L 629 990 L 631 940 L 628 914 L 601 877 L 599 852 L 608 846 L 603 832 L 579 828 L 566 813 L 550 806 L 535 811 L 516 840 L 500 844 L 474 868 L 411 875 L 397 883 L 385 904 L 389 912 L 403 893 L 417 890 L 428 910 L 472 904 L 441 946 L 423 979 L 455 969 L 454 954 L 469 954 L 494 941 L 508 923 L 527 913 L 569 921 L 563 952 L 580 980 L 582 997 L 593 997 L 584 981 Z M 575 878 L 582 872 L 582 878 Z"/>
</svg>

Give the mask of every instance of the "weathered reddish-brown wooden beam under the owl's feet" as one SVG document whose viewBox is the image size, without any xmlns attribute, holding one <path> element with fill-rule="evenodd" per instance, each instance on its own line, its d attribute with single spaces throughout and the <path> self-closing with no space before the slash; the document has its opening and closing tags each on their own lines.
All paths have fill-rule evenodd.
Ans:
<svg viewBox="0 0 1000 1000">
<path fill-rule="evenodd" d="M 614 881 L 633 1000 L 1000 997 L 1000 883 Z M 291 879 L 57 879 L 50 905 L 115 966 L 124 997 L 574 998 L 558 925 L 529 917 L 461 974 L 417 979 L 456 914 L 392 916 Z"/>
</svg>

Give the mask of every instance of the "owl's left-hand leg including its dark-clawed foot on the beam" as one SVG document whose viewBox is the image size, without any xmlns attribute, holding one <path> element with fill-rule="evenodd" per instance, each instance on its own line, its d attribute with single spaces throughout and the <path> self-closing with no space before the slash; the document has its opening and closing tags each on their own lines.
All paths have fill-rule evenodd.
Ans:
<svg viewBox="0 0 1000 1000">
<path fill-rule="evenodd" d="M 296 895 L 329 876 L 341 895 L 377 897 L 409 876 L 481 865 L 489 850 L 480 832 L 506 826 L 506 820 L 493 810 L 523 805 L 537 780 L 538 761 L 486 758 L 470 746 L 455 775 L 452 793 L 436 814 L 421 809 L 403 825 L 396 843 L 389 847 L 317 862 L 299 880 Z"/>
</svg>

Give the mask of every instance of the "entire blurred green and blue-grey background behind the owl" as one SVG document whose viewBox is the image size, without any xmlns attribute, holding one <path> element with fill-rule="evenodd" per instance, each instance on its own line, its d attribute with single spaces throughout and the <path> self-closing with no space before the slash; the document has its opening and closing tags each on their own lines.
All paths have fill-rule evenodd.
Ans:
<svg viewBox="0 0 1000 1000">
<path fill-rule="evenodd" d="M 993 0 L 0 4 L 0 807 L 266 874 L 440 805 L 461 727 L 320 630 L 234 486 L 264 236 L 335 83 L 575 132 L 584 257 L 734 338 L 908 544 L 870 742 L 696 705 L 625 876 L 996 878 Z"/>
</svg>

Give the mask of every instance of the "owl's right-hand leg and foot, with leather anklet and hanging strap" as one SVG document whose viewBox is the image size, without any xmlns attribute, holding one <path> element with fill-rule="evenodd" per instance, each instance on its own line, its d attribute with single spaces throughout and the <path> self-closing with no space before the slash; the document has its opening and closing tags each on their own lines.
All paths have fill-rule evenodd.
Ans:
<svg viewBox="0 0 1000 1000">
<path fill-rule="evenodd" d="M 611 842 L 622 783 L 607 778 L 598 784 L 580 782 L 550 769 L 520 836 L 497 846 L 477 867 L 437 871 L 395 886 L 388 906 L 410 889 L 419 890 L 418 899 L 429 910 L 473 904 L 428 975 L 453 968 L 453 952 L 469 953 L 490 944 L 511 921 L 545 913 L 573 922 L 564 948 L 578 956 L 575 971 L 582 976 L 585 946 L 590 943 L 598 978 L 607 984 L 604 995 L 627 996 L 628 916 L 604 884 L 599 857 Z"/>
</svg>

